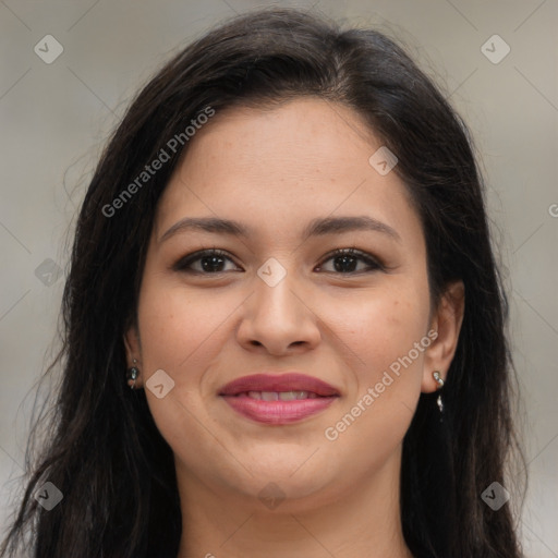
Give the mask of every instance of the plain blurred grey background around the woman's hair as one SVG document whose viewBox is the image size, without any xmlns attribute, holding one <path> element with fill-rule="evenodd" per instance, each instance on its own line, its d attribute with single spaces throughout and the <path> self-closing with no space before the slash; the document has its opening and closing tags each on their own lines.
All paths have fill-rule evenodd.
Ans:
<svg viewBox="0 0 558 558">
<path fill-rule="evenodd" d="M 65 234 L 107 134 L 172 52 L 223 17 L 271 4 L 0 1 L 0 525 L 23 472 L 31 390 L 52 354 Z M 526 409 L 530 488 L 521 536 L 526 556 L 558 557 L 558 1 L 280 5 L 314 5 L 396 36 L 469 123 L 489 185 Z M 47 64 L 34 47 L 46 50 L 49 34 L 63 52 Z M 482 50 L 495 34 L 511 49 L 498 63 Z M 492 43 L 485 51 L 504 53 L 501 43 Z"/>
</svg>

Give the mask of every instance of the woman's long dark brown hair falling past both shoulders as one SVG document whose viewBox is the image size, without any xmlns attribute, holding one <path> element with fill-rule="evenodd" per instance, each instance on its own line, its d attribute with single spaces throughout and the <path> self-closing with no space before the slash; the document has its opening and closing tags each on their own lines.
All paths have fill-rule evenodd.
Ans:
<svg viewBox="0 0 558 558">
<path fill-rule="evenodd" d="M 218 113 L 301 96 L 352 108 L 397 154 L 395 171 L 423 225 L 434 303 L 450 281 L 465 286 L 445 420 L 423 393 L 404 438 L 407 544 L 416 557 L 521 556 L 510 502 L 493 510 L 481 497 L 493 482 L 510 492 L 521 483 L 507 475 L 519 448 L 507 302 L 468 129 L 385 34 L 278 9 L 238 16 L 174 56 L 108 142 L 77 219 L 62 349 L 45 375 L 61 371 L 51 422 L 36 423 L 50 434 L 37 456 L 27 454 L 29 478 L 1 556 L 16 556 L 26 543 L 26 556 L 36 558 L 175 558 L 181 512 L 172 450 L 145 391 L 124 383 L 123 332 L 135 320 L 157 202 L 187 149 L 184 130 L 208 107 Z M 170 160 L 122 197 L 177 134 L 183 141 Z M 50 511 L 34 497 L 45 481 L 63 494 Z"/>
</svg>

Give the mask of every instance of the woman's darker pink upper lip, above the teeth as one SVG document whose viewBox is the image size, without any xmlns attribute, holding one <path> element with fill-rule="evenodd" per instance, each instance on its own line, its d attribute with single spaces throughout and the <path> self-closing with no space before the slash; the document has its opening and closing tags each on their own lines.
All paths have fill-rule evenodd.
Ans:
<svg viewBox="0 0 558 558">
<path fill-rule="evenodd" d="M 229 381 L 219 390 L 220 396 L 236 396 L 244 391 L 312 391 L 318 396 L 339 396 L 326 381 L 305 374 L 253 374 Z"/>
</svg>

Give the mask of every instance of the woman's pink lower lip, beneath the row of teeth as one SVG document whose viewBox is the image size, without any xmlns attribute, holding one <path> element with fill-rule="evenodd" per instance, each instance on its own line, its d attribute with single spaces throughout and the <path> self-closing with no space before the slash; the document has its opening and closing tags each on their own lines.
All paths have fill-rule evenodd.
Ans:
<svg viewBox="0 0 558 558">
<path fill-rule="evenodd" d="M 264 424 L 290 424 L 327 409 L 337 397 L 295 399 L 293 401 L 264 401 L 247 396 L 223 396 L 238 413 Z"/>
</svg>

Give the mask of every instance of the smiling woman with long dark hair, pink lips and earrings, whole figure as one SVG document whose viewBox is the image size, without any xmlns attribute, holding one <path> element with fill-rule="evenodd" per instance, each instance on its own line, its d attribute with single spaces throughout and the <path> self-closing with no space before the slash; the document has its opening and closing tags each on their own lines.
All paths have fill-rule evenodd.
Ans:
<svg viewBox="0 0 558 558">
<path fill-rule="evenodd" d="M 63 316 L 2 556 L 521 556 L 481 177 L 380 33 L 267 10 L 171 60 L 97 167 Z"/>
</svg>

